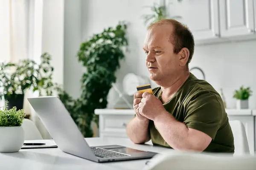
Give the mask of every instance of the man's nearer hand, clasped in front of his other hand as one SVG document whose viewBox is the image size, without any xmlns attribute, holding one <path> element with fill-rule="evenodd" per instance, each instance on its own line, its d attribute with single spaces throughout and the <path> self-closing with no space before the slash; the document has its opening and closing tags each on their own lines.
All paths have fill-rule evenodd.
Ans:
<svg viewBox="0 0 256 170">
<path fill-rule="evenodd" d="M 166 113 L 165 108 L 163 107 L 162 102 L 157 99 L 156 96 L 145 92 L 142 94 L 142 99 L 139 103 L 139 113 L 142 116 L 145 116 L 148 119 L 154 121 L 156 116 L 159 116 L 162 113 Z"/>
</svg>

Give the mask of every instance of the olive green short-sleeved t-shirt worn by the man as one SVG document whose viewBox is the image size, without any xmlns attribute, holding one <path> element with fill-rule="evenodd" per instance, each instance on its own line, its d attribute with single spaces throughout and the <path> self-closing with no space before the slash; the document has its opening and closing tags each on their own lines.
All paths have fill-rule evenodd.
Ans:
<svg viewBox="0 0 256 170">
<path fill-rule="evenodd" d="M 154 88 L 153 93 L 160 99 L 161 88 Z M 200 130 L 212 138 L 204 151 L 234 153 L 233 133 L 223 101 L 207 81 L 197 79 L 190 74 L 175 96 L 163 106 L 188 128 Z M 170 147 L 151 120 L 149 130 L 153 144 Z"/>
</svg>

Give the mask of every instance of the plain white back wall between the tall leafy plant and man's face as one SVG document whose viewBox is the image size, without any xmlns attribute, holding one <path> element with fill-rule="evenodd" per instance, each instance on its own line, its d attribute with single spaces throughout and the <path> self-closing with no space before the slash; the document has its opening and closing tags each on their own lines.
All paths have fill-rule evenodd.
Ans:
<svg viewBox="0 0 256 170">
<path fill-rule="evenodd" d="M 108 26 L 116 26 L 119 21 L 128 23 L 128 42 L 130 52 L 122 62 L 122 68 L 117 72 L 118 77 L 123 77 L 128 72 L 148 75 L 144 65 L 145 53 L 142 50 L 146 27 L 142 18 L 148 14 L 154 2 L 160 0 L 87 0 L 83 7 L 88 10 L 88 18 L 83 25 L 85 30 L 83 38 L 90 37 L 93 33 L 103 31 Z"/>
</svg>

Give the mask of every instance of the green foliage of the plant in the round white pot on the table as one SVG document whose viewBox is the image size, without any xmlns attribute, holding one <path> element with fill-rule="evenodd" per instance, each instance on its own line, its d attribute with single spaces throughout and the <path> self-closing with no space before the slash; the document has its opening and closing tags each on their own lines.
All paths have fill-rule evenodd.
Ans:
<svg viewBox="0 0 256 170">
<path fill-rule="evenodd" d="M 16 107 L 13 107 L 8 110 L 7 102 L 0 108 L 0 127 L 21 126 L 25 117 L 23 109 L 17 110 Z"/>
</svg>

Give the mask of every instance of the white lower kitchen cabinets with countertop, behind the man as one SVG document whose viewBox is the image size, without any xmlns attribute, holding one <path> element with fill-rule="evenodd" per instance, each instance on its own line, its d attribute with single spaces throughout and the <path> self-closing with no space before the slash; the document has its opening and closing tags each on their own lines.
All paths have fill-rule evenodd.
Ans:
<svg viewBox="0 0 256 170">
<path fill-rule="evenodd" d="M 240 120 L 245 127 L 250 153 L 255 154 L 256 148 L 256 110 L 250 109 L 232 110 L 227 109 L 229 120 Z M 133 109 L 96 109 L 99 115 L 99 136 L 128 138 L 126 125 L 134 118 Z"/>
</svg>

